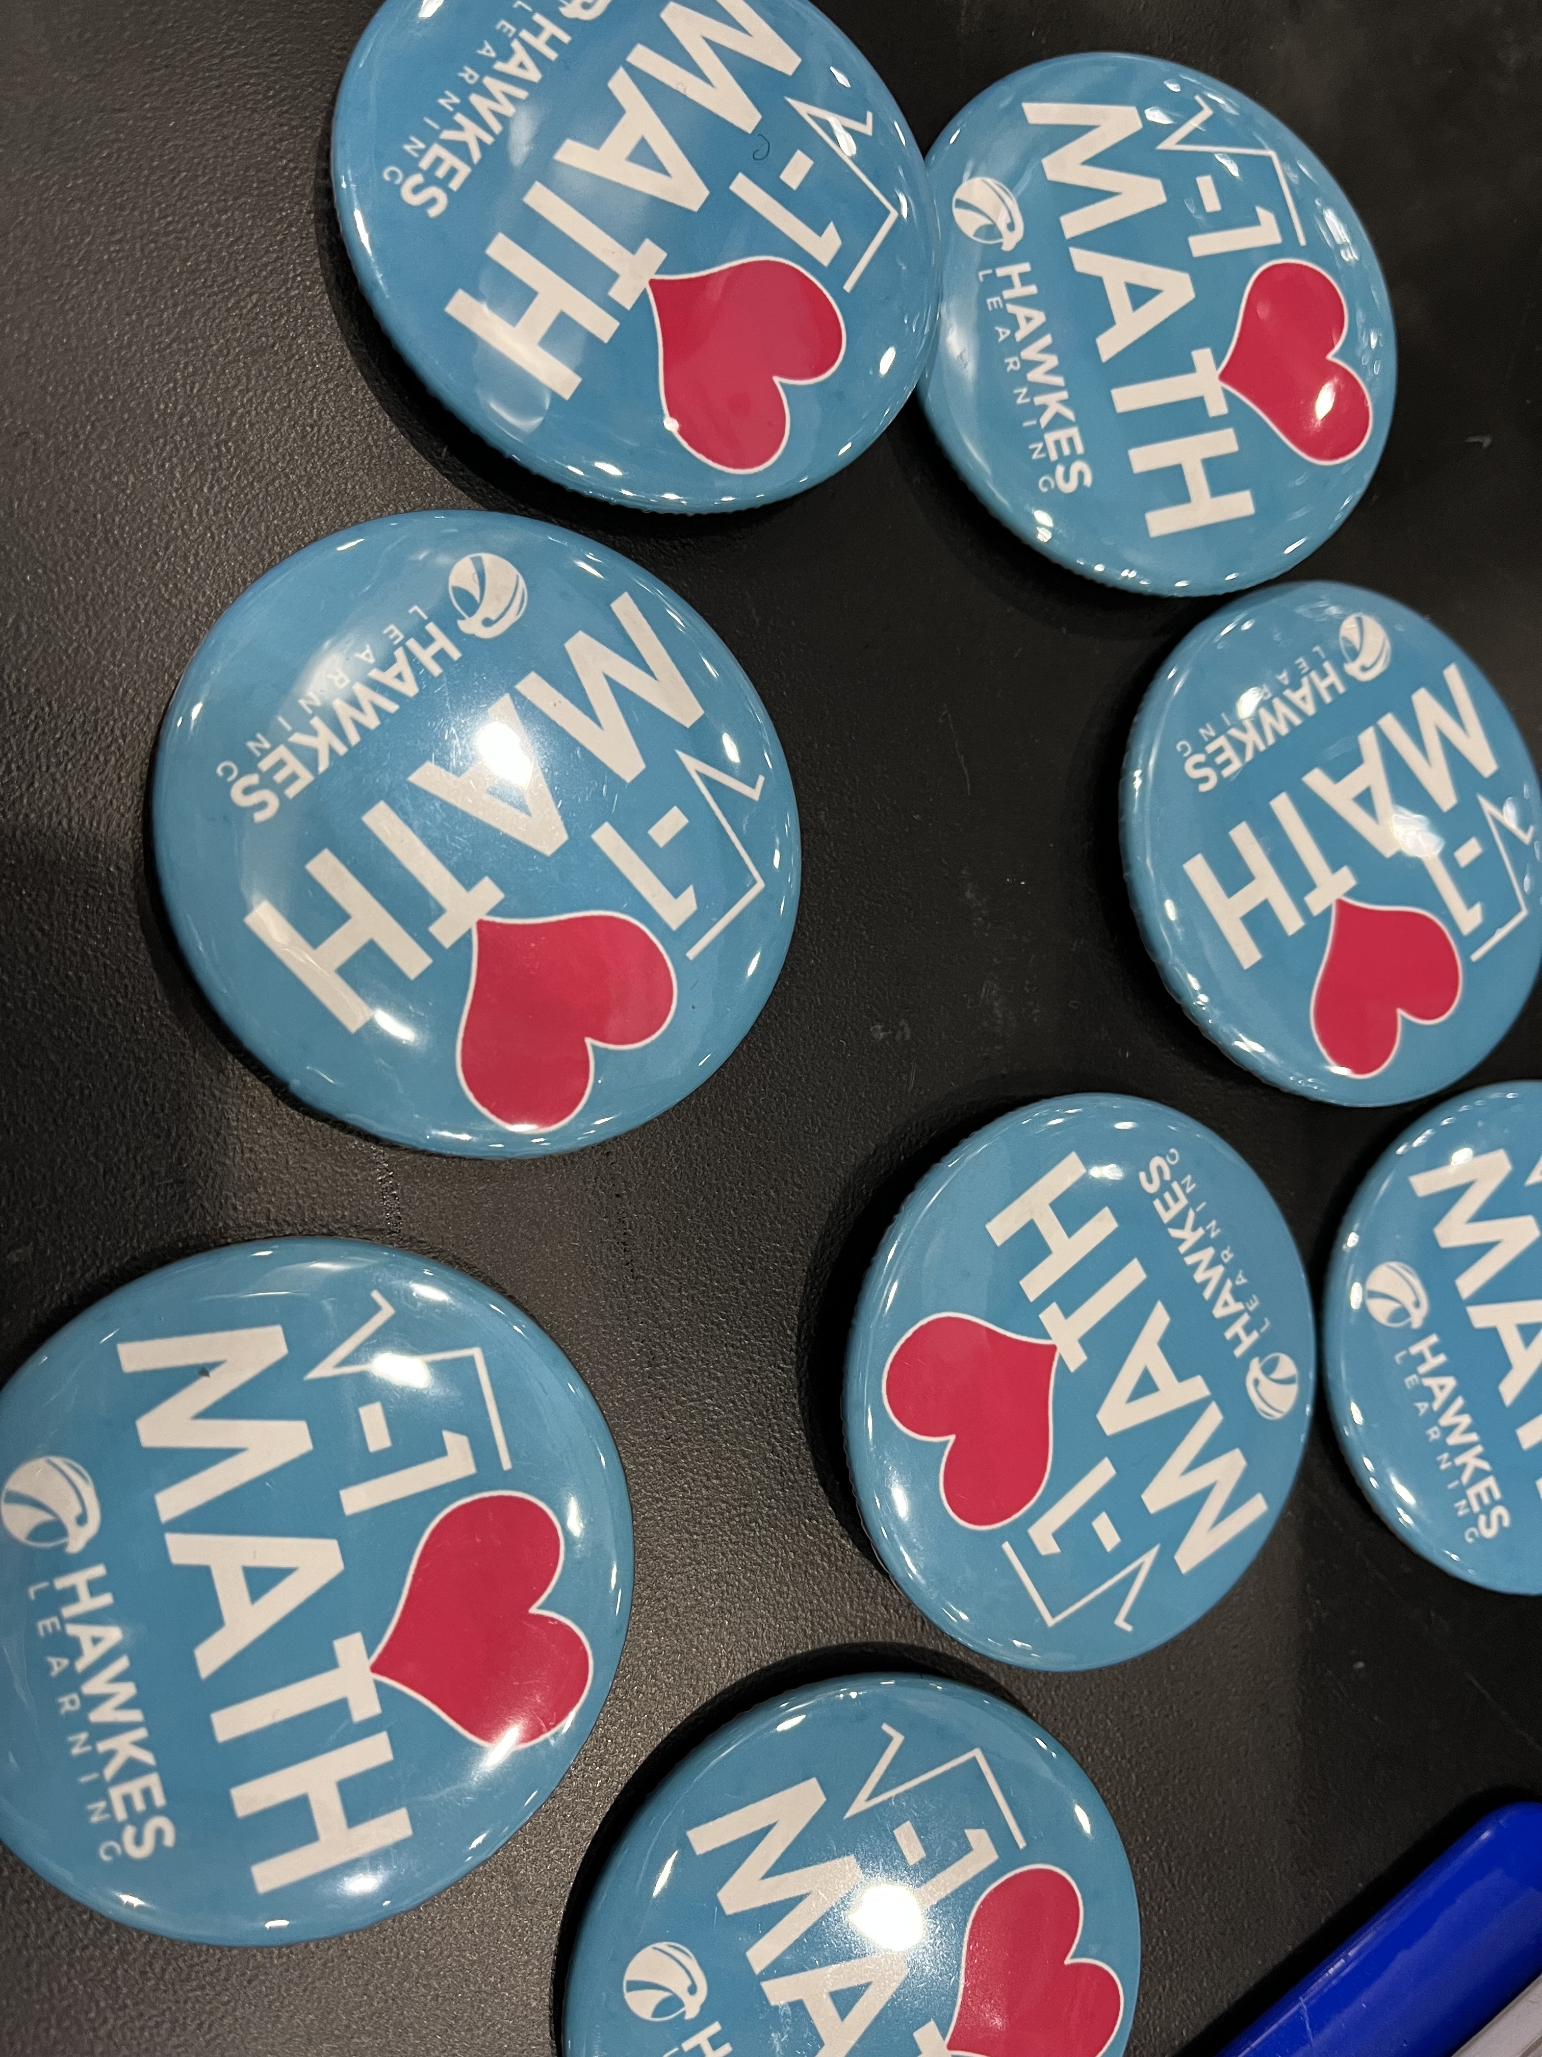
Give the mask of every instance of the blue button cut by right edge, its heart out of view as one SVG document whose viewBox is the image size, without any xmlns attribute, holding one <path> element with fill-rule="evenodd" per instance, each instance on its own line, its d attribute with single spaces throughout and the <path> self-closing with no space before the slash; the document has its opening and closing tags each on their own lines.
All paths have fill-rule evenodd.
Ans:
<svg viewBox="0 0 1542 2057">
<path fill-rule="evenodd" d="M 1322 1370 L 1349 1469 L 1441 1572 L 1542 1592 L 1542 1086 L 1423 1115 L 1345 1216 Z"/>
</svg>

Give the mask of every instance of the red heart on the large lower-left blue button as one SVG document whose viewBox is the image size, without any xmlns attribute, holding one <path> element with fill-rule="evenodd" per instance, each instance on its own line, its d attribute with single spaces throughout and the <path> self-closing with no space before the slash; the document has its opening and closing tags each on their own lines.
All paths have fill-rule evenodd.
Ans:
<svg viewBox="0 0 1542 2057">
<path fill-rule="evenodd" d="M 557 1572 L 551 1508 L 526 1493 L 456 1500 L 417 1545 L 370 1670 L 473 1742 L 539 1742 L 578 1711 L 594 1676 L 584 1633 L 541 1613 Z"/>
</svg>

